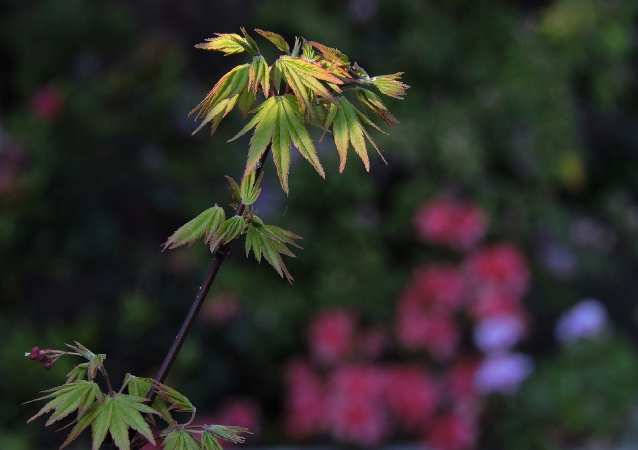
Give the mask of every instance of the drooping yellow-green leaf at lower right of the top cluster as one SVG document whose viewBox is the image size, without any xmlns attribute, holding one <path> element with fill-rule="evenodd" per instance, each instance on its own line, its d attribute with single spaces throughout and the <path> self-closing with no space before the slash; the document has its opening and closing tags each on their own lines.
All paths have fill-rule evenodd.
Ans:
<svg viewBox="0 0 638 450">
<path fill-rule="evenodd" d="M 325 126 L 329 127 L 330 124 L 332 124 L 334 143 L 337 147 L 337 151 L 339 152 L 339 171 L 342 172 L 346 166 L 348 147 L 350 147 L 351 143 L 353 149 L 355 149 L 355 152 L 357 152 L 357 155 L 359 155 L 361 161 L 363 161 L 366 170 L 370 170 L 370 162 L 367 157 L 366 139 L 373 145 L 373 147 L 375 147 L 379 156 L 381 156 L 381 159 L 385 162 L 380 150 L 376 147 L 375 142 L 367 133 L 361 122 L 365 122 L 376 129 L 379 129 L 379 127 L 371 122 L 364 113 L 357 110 L 357 108 L 355 108 L 355 106 L 352 105 L 352 103 L 350 103 L 345 97 L 339 97 L 337 100 L 340 107 L 338 108 L 337 106 L 330 105 Z M 379 131 L 382 130 L 379 129 Z"/>
</svg>

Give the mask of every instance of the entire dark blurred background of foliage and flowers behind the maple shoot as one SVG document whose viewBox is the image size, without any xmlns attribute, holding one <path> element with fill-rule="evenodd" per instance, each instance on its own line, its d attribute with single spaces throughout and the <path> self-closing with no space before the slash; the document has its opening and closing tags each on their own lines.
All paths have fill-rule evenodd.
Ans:
<svg viewBox="0 0 638 450">
<path fill-rule="evenodd" d="M 156 373 L 211 263 L 160 245 L 246 155 L 239 114 L 191 136 L 244 62 L 193 45 L 242 26 L 412 87 L 387 166 L 339 174 L 325 140 L 327 180 L 297 158 L 285 196 L 267 164 L 258 214 L 304 249 L 293 286 L 226 260 L 168 379 L 200 419 L 246 445 L 638 448 L 634 0 L 2 0 L 1 446 L 64 440 L 20 403 L 73 361 L 34 345 Z"/>
</svg>

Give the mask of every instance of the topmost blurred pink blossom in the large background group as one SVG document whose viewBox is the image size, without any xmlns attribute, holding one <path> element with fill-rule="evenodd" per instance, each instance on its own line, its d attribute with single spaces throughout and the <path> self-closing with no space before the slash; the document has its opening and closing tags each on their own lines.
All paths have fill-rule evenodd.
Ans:
<svg viewBox="0 0 638 450">
<path fill-rule="evenodd" d="M 419 238 L 427 242 L 469 250 L 485 236 L 487 219 L 471 203 L 440 197 L 419 208 L 414 224 Z"/>
</svg>

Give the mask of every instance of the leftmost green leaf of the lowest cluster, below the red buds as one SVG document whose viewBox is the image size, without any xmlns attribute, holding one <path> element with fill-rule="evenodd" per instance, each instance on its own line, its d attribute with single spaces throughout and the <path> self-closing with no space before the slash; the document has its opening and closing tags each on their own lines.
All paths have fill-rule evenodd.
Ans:
<svg viewBox="0 0 638 450">
<path fill-rule="evenodd" d="M 73 381 L 43 392 L 50 392 L 50 394 L 31 400 L 31 402 L 45 400 L 47 398 L 52 398 L 52 400 L 47 402 L 33 417 L 27 420 L 27 423 L 46 414 L 50 410 L 55 411 L 48 418 L 45 426 L 64 419 L 64 417 L 75 410 L 78 410 L 78 417 L 82 417 L 96 400 L 101 402 L 103 398 L 100 387 L 94 381 L 87 380 Z"/>
</svg>

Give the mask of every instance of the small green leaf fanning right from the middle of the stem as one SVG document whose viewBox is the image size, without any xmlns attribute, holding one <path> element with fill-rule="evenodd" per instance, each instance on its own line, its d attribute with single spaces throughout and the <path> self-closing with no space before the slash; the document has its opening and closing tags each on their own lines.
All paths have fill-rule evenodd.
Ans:
<svg viewBox="0 0 638 450">
<path fill-rule="evenodd" d="M 285 229 L 265 225 L 259 217 L 253 215 L 253 219 L 246 232 L 246 256 L 250 254 L 250 250 L 253 250 L 255 259 L 260 263 L 263 255 L 263 258 L 274 267 L 280 277 L 283 278 L 285 275 L 288 282 L 292 283 L 292 276 L 290 276 L 290 272 L 288 272 L 280 254 L 285 254 L 292 258 L 295 257 L 288 247 L 286 247 L 286 243 L 289 243 L 301 248 L 294 242 L 294 239 L 301 239 L 301 237 Z"/>
</svg>

